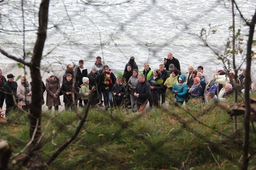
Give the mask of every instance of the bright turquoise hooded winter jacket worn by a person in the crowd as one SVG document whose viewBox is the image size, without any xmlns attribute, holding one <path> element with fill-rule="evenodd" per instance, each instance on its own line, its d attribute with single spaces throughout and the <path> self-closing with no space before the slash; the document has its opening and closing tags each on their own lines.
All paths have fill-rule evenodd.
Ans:
<svg viewBox="0 0 256 170">
<path fill-rule="evenodd" d="M 182 79 L 182 83 L 185 82 L 186 77 L 184 75 L 178 76 L 177 77 L 178 81 L 179 81 L 179 77 Z M 177 83 L 178 83 L 178 81 L 177 81 Z M 177 90 L 178 93 L 176 94 L 176 99 L 177 99 L 177 101 L 183 102 L 186 99 L 188 87 L 187 87 L 186 83 L 183 84 L 181 87 L 178 87 L 177 83 L 173 86 L 172 93 L 175 94 L 174 91 Z"/>
</svg>

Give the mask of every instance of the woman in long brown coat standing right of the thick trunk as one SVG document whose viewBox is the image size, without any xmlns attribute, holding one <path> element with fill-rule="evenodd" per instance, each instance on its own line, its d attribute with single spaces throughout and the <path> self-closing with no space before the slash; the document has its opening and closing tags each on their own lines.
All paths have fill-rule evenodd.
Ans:
<svg viewBox="0 0 256 170">
<path fill-rule="evenodd" d="M 60 106 L 60 81 L 57 77 L 51 74 L 45 82 L 45 89 L 47 92 L 46 106 L 48 106 L 49 110 L 52 110 L 52 106 L 54 106 L 54 110 L 58 111 L 58 106 Z"/>
</svg>

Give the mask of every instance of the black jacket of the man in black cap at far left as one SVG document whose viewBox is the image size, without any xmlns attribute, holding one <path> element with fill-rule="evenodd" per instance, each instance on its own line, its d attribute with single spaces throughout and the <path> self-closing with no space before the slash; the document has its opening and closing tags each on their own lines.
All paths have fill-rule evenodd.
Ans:
<svg viewBox="0 0 256 170">
<path fill-rule="evenodd" d="M 5 103 L 6 104 L 14 104 L 13 95 L 17 96 L 17 82 L 5 82 L 3 84 L 3 91 L 5 91 Z"/>
</svg>

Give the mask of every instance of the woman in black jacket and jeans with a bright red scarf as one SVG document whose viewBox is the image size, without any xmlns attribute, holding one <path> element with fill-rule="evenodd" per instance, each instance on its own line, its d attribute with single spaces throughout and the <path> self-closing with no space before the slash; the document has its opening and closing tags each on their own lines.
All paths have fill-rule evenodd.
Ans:
<svg viewBox="0 0 256 170">
<path fill-rule="evenodd" d="M 104 71 L 99 75 L 98 87 L 101 87 L 105 108 L 110 109 L 114 107 L 111 90 L 115 84 L 116 77 L 109 70 L 108 65 L 105 65 L 103 69 Z"/>
</svg>

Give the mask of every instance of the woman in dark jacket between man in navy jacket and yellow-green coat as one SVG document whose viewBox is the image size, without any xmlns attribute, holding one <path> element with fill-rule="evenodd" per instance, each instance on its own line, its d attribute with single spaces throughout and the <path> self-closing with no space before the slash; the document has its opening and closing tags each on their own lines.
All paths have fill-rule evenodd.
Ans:
<svg viewBox="0 0 256 170">
<path fill-rule="evenodd" d="M 160 106 L 160 96 L 163 89 L 163 79 L 160 78 L 160 70 L 156 69 L 153 72 L 153 77 L 149 79 L 149 84 L 151 87 L 151 97 L 149 98 L 149 107 Z"/>
</svg>

